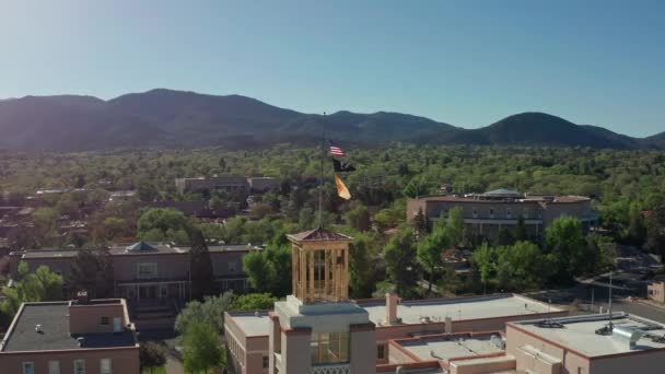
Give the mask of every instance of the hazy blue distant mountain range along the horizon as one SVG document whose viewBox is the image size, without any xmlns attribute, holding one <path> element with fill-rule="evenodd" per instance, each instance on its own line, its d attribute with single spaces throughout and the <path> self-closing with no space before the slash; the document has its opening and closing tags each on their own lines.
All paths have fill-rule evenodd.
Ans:
<svg viewBox="0 0 665 374">
<path fill-rule="evenodd" d="M 326 135 L 346 144 L 497 144 L 665 148 L 665 132 L 632 138 L 575 125 L 544 113 L 522 113 L 479 129 L 424 117 L 337 112 L 323 117 L 240 96 L 158 89 L 109 101 L 92 96 L 26 96 L 0 101 L 0 148 L 51 151 L 137 147 L 235 149 L 290 142 L 315 144 Z"/>
</svg>

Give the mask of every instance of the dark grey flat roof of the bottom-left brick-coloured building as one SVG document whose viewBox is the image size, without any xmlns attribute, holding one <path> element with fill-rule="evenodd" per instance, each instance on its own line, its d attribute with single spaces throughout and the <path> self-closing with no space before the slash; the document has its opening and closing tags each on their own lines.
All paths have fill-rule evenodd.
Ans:
<svg viewBox="0 0 665 374">
<path fill-rule="evenodd" d="M 35 326 L 42 325 L 39 332 Z M 77 338 L 84 340 L 79 347 Z M 0 352 L 135 347 L 133 331 L 69 335 L 69 302 L 26 303 L 4 337 Z"/>
</svg>

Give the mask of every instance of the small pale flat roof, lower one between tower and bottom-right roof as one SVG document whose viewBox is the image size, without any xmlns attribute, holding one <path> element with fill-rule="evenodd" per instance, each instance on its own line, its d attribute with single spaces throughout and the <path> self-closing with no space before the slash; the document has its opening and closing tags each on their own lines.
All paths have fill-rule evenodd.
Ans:
<svg viewBox="0 0 665 374">
<path fill-rule="evenodd" d="M 421 361 L 450 360 L 459 358 L 474 358 L 487 354 L 505 352 L 492 342 L 501 341 L 499 332 L 491 335 L 464 336 L 424 336 L 415 339 L 395 340 L 405 350 L 418 357 Z"/>
</svg>

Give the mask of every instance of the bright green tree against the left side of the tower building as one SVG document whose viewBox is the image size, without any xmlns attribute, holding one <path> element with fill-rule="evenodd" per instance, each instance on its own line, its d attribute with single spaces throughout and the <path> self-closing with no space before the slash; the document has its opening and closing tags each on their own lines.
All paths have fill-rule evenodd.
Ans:
<svg viewBox="0 0 665 374">
<path fill-rule="evenodd" d="M 208 369 L 221 364 L 222 350 L 214 327 L 203 322 L 192 322 L 183 336 L 183 363 L 191 373 L 208 373 Z"/>
</svg>

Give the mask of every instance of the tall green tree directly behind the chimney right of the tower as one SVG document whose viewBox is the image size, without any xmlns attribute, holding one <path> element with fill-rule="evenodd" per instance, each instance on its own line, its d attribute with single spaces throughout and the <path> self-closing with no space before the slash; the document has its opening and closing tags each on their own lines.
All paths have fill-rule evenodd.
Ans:
<svg viewBox="0 0 665 374">
<path fill-rule="evenodd" d="M 395 282 L 397 293 L 406 299 L 416 295 L 418 262 L 413 241 L 413 230 L 401 226 L 384 249 L 386 271 Z"/>
</svg>

